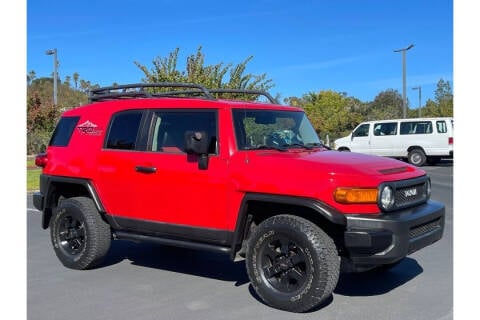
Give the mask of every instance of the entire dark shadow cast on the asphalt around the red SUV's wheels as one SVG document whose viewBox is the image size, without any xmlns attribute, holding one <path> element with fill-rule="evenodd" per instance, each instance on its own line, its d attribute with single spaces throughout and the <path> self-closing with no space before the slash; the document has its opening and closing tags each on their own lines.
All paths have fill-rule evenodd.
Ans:
<svg viewBox="0 0 480 320">
<path fill-rule="evenodd" d="M 244 260 L 232 261 L 226 254 L 124 240 L 112 242 L 107 257 L 99 267 L 112 266 L 125 260 L 142 267 L 234 282 L 235 286 L 250 282 Z M 407 257 L 390 270 L 341 273 L 334 294 L 381 295 L 402 286 L 422 272 L 423 269 L 417 261 Z M 251 285 L 249 285 L 249 291 L 256 300 L 262 302 Z M 331 302 L 331 299 L 327 300 L 319 308 Z"/>
</svg>

